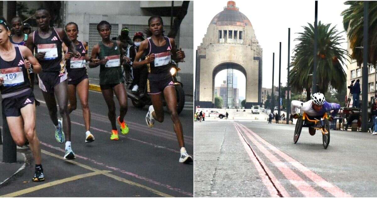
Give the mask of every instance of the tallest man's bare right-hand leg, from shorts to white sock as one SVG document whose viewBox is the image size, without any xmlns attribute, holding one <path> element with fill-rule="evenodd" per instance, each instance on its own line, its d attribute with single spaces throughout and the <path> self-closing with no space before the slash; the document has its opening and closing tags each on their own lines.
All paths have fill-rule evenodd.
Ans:
<svg viewBox="0 0 377 198">
<path fill-rule="evenodd" d="M 67 81 L 64 80 L 63 82 L 55 85 L 55 95 L 58 99 L 58 105 L 59 105 L 59 113 L 61 118 L 63 118 L 63 131 L 64 135 L 66 137 L 66 141 L 70 140 L 70 118 L 68 113 L 68 87 L 67 87 Z M 56 108 L 56 107 L 55 107 Z"/>
</svg>

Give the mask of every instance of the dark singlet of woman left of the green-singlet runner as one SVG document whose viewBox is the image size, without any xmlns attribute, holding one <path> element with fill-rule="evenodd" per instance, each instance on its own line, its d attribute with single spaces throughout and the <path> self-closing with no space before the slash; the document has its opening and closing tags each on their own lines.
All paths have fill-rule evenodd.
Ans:
<svg viewBox="0 0 377 198">
<path fill-rule="evenodd" d="M 70 78 L 76 79 L 80 78 L 81 76 L 86 74 L 86 61 L 85 61 L 85 55 L 86 50 L 84 47 L 83 42 L 78 41 L 78 45 L 76 45 L 76 51 L 78 51 L 81 54 L 80 58 L 72 57 L 68 60 L 66 60 L 66 68 L 67 72 Z M 68 49 L 68 52 L 71 52 Z"/>
</svg>

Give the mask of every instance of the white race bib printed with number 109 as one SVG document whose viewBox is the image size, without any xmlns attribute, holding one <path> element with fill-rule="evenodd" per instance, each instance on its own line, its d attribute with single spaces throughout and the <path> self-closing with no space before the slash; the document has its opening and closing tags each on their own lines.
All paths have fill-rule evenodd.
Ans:
<svg viewBox="0 0 377 198">
<path fill-rule="evenodd" d="M 16 86 L 24 82 L 23 72 L 21 67 L 0 69 L 0 77 L 4 78 L 3 86 Z"/>
</svg>

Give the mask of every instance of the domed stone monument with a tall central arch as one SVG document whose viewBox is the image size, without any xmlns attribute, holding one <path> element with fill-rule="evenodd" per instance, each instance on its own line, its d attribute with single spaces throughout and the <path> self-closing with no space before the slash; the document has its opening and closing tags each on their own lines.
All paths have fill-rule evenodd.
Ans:
<svg viewBox="0 0 377 198">
<path fill-rule="evenodd" d="M 245 108 L 261 103 L 262 48 L 250 20 L 229 1 L 207 28 L 196 52 L 195 103 L 212 107 L 215 76 L 224 69 L 237 69 L 246 77 Z"/>
</svg>

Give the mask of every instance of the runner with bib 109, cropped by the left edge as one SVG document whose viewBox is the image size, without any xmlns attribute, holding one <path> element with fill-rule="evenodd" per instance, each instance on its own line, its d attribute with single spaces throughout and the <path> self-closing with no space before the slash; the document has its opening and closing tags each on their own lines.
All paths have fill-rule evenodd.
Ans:
<svg viewBox="0 0 377 198">
<path fill-rule="evenodd" d="M 12 44 L 6 21 L 0 20 L 0 92 L 2 109 L 12 138 L 17 146 L 29 141 L 35 160 L 32 181 L 44 181 L 41 149 L 35 132 L 34 94 L 30 88 L 28 69 L 40 72 L 41 66 L 25 46 Z M 31 64 L 33 66 L 31 66 Z"/>
</svg>

